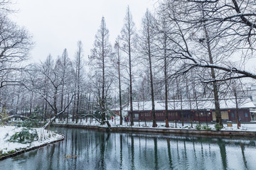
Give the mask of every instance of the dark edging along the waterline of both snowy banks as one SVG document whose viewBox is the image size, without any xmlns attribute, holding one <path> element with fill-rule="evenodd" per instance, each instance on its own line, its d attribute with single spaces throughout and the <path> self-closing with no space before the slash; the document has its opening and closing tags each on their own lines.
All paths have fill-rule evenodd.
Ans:
<svg viewBox="0 0 256 170">
<path fill-rule="evenodd" d="M 237 138 L 241 139 L 242 137 L 256 137 L 255 131 L 245 131 L 245 130 L 192 130 L 192 129 L 176 129 L 176 128 L 144 128 L 144 127 L 112 127 L 107 128 L 105 126 L 100 125 L 75 125 L 75 124 L 62 124 L 62 123 L 53 123 L 53 127 L 60 128 L 82 128 L 88 130 L 99 130 L 104 132 L 130 132 L 130 133 L 150 133 L 152 135 L 179 135 L 179 136 L 189 136 L 189 137 L 209 137 L 209 138 Z M 18 154 L 23 154 L 25 152 L 29 152 L 41 147 L 45 147 L 49 144 L 54 144 L 57 142 L 61 142 L 65 139 L 63 136 L 61 139 L 47 142 L 45 144 L 29 147 L 28 149 L 21 149 L 17 152 L 6 154 L 0 157 L 0 161 L 3 159 L 7 159 L 10 157 L 15 157 Z"/>
</svg>

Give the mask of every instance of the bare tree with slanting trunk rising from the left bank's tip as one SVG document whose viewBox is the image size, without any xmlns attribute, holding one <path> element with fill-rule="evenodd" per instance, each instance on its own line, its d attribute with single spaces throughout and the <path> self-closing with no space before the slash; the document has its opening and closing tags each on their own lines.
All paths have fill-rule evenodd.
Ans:
<svg viewBox="0 0 256 170">
<path fill-rule="evenodd" d="M 51 118 L 44 128 L 47 128 L 51 123 L 53 123 L 58 115 L 63 114 L 66 108 L 68 108 L 70 103 L 73 101 L 72 96 L 70 98 L 70 102 L 65 106 L 65 108 L 61 109 L 60 106 L 58 106 L 58 101 L 61 99 L 60 96 L 63 85 L 63 74 L 61 72 L 62 67 L 60 62 L 55 62 L 54 65 L 50 55 L 46 61 L 47 62 L 40 65 L 31 65 L 31 69 L 28 71 L 30 77 L 26 80 L 26 84 L 23 84 L 26 86 L 26 89 L 32 93 L 41 96 L 53 111 L 53 115 L 50 115 Z M 47 81 L 45 81 L 44 78 L 47 79 Z M 73 81 L 73 79 L 71 78 L 69 81 Z M 46 82 L 48 82 L 48 86 L 44 86 Z M 48 89 L 48 93 L 45 93 L 45 88 Z M 68 93 L 73 93 L 72 89 L 70 89 Z"/>
</svg>

